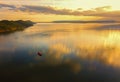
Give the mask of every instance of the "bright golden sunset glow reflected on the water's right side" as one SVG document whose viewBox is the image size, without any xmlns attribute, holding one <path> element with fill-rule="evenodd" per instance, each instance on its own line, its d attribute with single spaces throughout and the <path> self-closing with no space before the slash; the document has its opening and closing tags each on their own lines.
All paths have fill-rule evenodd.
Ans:
<svg viewBox="0 0 120 82">
<path fill-rule="evenodd" d="M 41 26 L 44 26 L 44 24 L 41 24 Z M 46 39 L 43 39 L 43 42 L 48 45 L 47 53 L 49 53 L 49 56 L 47 58 L 52 64 L 57 64 L 57 62 L 63 63 L 65 62 L 65 56 L 70 56 L 73 54 L 80 60 L 84 59 L 89 60 L 90 62 L 99 61 L 108 66 L 120 67 L 120 32 L 116 30 L 86 30 L 93 27 L 99 28 L 102 26 L 104 25 L 53 25 L 48 23 L 48 25 L 44 26 L 44 28 L 41 28 L 40 30 L 37 30 L 37 27 L 31 27 L 29 29 L 26 29 L 24 32 L 29 33 L 34 31 L 33 34 L 36 32 L 45 32 L 45 36 L 49 36 Z M 66 59 L 66 61 L 68 59 Z M 76 69 L 76 71 L 78 72 L 78 69 L 81 69 L 81 66 L 76 66 L 76 68 L 73 69 Z"/>
</svg>

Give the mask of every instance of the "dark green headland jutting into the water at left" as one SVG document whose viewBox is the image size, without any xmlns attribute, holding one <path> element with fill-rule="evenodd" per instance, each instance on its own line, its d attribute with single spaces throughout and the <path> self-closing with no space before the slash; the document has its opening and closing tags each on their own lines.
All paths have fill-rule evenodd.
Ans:
<svg viewBox="0 0 120 82">
<path fill-rule="evenodd" d="M 35 23 L 32 21 L 8 21 L 8 20 L 1 20 L 0 21 L 0 33 L 2 32 L 14 32 L 24 30 L 27 27 L 33 26 Z"/>
</svg>

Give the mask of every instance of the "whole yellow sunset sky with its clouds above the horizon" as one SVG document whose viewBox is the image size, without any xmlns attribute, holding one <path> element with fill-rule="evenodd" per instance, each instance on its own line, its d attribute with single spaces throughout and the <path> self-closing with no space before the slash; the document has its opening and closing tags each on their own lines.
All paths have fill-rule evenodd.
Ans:
<svg viewBox="0 0 120 82">
<path fill-rule="evenodd" d="M 120 20 L 120 0 L 0 0 L 0 20 Z"/>
</svg>

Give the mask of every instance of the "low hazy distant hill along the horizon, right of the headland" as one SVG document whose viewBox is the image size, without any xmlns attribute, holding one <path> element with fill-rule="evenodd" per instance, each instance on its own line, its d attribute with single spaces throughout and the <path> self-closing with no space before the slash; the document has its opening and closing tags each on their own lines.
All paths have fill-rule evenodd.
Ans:
<svg viewBox="0 0 120 82">
<path fill-rule="evenodd" d="M 81 21 L 81 20 L 58 20 L 53 23 L 116 23 L 114 20 L 95 20 L 95 21 Z"/>
</svg>

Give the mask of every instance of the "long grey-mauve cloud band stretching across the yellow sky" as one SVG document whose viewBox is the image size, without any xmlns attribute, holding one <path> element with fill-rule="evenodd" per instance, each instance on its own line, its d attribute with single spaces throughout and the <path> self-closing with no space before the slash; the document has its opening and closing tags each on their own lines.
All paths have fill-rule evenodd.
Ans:
<svg viewBox="0 0 120 82">
<path fill-rule="evenodd" d="M 16 7 L 14 5 L 0 4 L 0 8 L 9 8 L 15 12 L 21 11 L 26 13 L 37 13 L 37 14 L 55 14 L 55 15 L 74 15 L 74 16 L 101 16 L 101 17 L 120 17 L 120 11 L 108 11 L 111 7 L 104 6 L 98 7 L 91 10 L 77 10 L 71 9 L 58 9 L 51 6 L 30 6 L 22 5 Z"/>
</svg>

